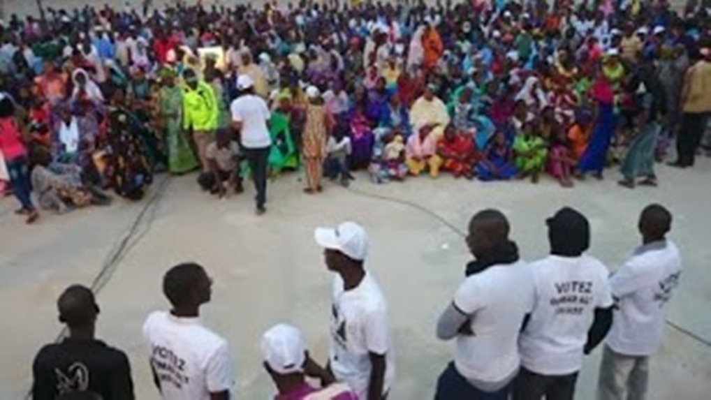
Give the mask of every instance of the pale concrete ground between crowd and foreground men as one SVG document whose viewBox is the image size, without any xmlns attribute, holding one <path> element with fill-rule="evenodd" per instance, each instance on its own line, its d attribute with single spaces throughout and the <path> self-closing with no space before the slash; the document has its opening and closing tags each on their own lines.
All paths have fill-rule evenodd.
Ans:
<svg viewBox="0 0 711 400">
<path fill-rule="evenodd" d="M 498 207 L 510 217 L 525 259 L 546 254 L 545 217 L 571 205 L 591 221 L 590 253 L 611 269 L 638 244 L 636 219 L 642 207 L 661 202 L 674 212 L 671 236 L 685 259 L 668 317 L 711 340 L 711 317 L 704 311 L 711 306 L 706 271 L 711 259 L 711 159 L 702 159 L 693 170 L 660 167 L 658 173 L 660 188 L 634 191 L 618 188 L 613 171 L 603 182 L 590 180 L 572 190 L 549 180 L 540 185 L 470 183 L 449 176 L 378 186 L 359 175 L 353 184 L 358 193 L 326 185 L 323 195 L 313 197 L 301 193 L 299 175 L 292 174 L 269 186 L 269 212 L 263 217 L 254 215 L 251 188 L 245 195 L 216 200 L 197 190 L 193 175 L 171 178 L 144 212 L 124 258 L 100 279 L 97 334 L 129 354 L 137 398 L 156 399 L 141 323 L 151 310 L 166 308 L 164 272 L 181 261 L 198 261 L 215 281 L 204 320 L 230 342 L 237 394 L 265 399 L 272 386 L 261 369 L 259 342 L 270 325 L 298 325 L 312 353 L 326 358 L 331 276 L 312 232 L 317 226 L 355 220 L 368 229 L 368 268 L 390 302 L 398 370 L 391 398 L 432 398 L 452 347 L 435 339 L 434 325 L 461 282 L 469 255 L 463 239 L 432 215 L 363 195 L 369 193 L 415 202 L 458 229 L 465 229 L 477 210 Z M 152 190 L 159 192 L 160 181 Z M 0 399 L 21 399 L 26 393 L 33 356 L 61 328 L 55 311 L 58 294 L 70 283 L 96 279 L 146 204 L 117 200 L 104 209 L 44 213 L 30 227 L 12 215 L 13 198 L 0 201 Z M 599 350 L 584 362 L 577 398 L 593 399 L 598 365 Z M 650 399 L 701 400 L 710 391 L 711 349 L 668 328 L 661 354 L 653 360 Z"/>
</svg>

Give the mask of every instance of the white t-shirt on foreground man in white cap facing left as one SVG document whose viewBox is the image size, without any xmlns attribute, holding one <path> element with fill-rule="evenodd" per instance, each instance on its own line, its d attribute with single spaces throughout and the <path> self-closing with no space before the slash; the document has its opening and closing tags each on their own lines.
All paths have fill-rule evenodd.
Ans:
<svg viewBox="0 0 711 400">
<path fill-rule="evenodd" d="M 387 393 L 395 380 L 395 357 L 390 344 L 387 303 L 370 273 L 357 287 L 343 290 L 343 279 L 333 279 L 330 361 L 336 379 L 353 388 L 358 399 L 368 399 L 370 352 L 385 355 Z"/>
</svg>

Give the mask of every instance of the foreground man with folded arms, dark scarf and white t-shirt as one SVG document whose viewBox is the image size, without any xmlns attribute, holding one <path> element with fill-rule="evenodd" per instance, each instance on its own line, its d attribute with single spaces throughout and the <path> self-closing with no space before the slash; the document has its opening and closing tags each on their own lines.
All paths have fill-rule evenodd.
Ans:
<svg viewBox="0 0 711 400">
<path fill-rule="evenodd" d="M 456 349 L 435 400 L 508 399 L 519 368 L 516 340 L 533 308 L 533 284 L 509 231 L 498 210 L 483 210 L 469 222 L 466 244 L 476 261 L 466 266 L 468 277 L 437 323 L 437 337 L 456 339 Z"/>
</svg>

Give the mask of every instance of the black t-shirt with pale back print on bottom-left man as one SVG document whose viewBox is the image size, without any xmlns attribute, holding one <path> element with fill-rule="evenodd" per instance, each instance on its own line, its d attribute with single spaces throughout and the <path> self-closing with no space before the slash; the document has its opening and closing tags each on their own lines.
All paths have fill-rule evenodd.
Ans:
<svg viewBox="0 0 711 400">
<path fill-rule="evenodd" d="M 33 399 L 54 400 L 71 391 L 90 391 L 103 400 L 133 400 L 129 360 L 100 340 L 65 339 L 46 345 L 32 366 Z"/>
</svg>

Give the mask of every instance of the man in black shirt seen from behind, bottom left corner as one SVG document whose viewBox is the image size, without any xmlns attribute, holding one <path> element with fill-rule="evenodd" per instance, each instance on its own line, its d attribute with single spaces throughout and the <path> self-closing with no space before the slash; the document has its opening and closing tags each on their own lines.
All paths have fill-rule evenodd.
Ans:
<svg viewBox="0 0 711 400">
<path fill-rule="evenodd" d="M 33 399 L 54 400 L 73 392 L 92 393 L 103 400 L 134 399 L 128 358 L 94 338 L 99 306 L 92 291 L 70 286 L 59 296 L 57 308 L 69 335 L 37 353 L 32 366 Z"/>
</svg>

